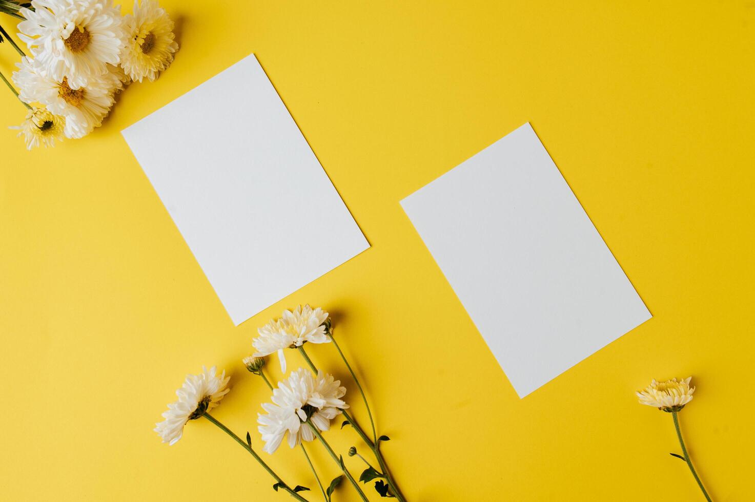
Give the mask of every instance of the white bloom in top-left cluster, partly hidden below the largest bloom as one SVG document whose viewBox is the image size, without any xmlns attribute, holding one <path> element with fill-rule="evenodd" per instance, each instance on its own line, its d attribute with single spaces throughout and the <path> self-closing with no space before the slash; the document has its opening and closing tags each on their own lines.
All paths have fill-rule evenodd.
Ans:
<svg viewBox="0 0 755 502">
<path fill-rule="evenodd" d="M 66 118 L 64 133 L 69 138 L 84 137 L 100 126 L 114 103 L 116 77 L 91 77 L 86 87 L 73 89 L 68 79 L 57 81 L 42 74 L 36 60 L 24 57 L 13 72 L 19 97 L 26 103 L 42 103 L 56 115 Z"/>
</svg>

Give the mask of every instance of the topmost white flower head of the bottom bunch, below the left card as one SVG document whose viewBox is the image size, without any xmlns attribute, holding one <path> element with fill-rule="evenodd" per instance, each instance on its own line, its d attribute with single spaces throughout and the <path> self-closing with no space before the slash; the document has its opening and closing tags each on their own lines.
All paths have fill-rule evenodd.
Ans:
<svg viewBox="0 0 755 502">
<path fill-rule="evenodd" d="M 312 310 L 309 305 L 297 306 L 293 312 L 284 310 L 283 316 L 270 321 L 257 330 L 259 337 L 251 340 L 257 350 L 254 357 L 268 356 L 278 353 L 281 370 L 285 372 L 285 353 L 288 348 L 302 346 L 304 342 L 328 343 L 330 338 L 325 334 L 323 323 L 328 319 L 328 313 L 317 307 Z"/>
</svg>

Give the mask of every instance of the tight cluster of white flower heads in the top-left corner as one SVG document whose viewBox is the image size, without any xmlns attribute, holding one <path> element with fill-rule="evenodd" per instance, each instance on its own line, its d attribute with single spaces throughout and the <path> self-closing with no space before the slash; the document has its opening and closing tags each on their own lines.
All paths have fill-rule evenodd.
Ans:
<svg viewBox="0 0 755 502">
<path fill-rule="evenodd" d="M 116 93 L 128 82 L 156 79 L 178 49 L 173 21 L 156 0 L 135 0 L 126 16 L 112 0 L 31 5 L 19 11 L 26 20 L 18 35 L 33 57 L 23 57 L 13 74 L 20 100 L 32 106 L 17 128 L 29 149 L 89 134 Z"/>
</svg>

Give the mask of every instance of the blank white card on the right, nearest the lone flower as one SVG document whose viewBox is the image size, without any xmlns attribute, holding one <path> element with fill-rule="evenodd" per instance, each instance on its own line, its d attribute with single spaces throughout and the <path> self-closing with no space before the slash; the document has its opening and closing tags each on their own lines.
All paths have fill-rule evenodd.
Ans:
<svg viewBox="0 0 755 502">
<path fill-rule="evenodd" d="M 520 397 L 651 317 L 529 124 L 401 205 Z"/>
</svg>

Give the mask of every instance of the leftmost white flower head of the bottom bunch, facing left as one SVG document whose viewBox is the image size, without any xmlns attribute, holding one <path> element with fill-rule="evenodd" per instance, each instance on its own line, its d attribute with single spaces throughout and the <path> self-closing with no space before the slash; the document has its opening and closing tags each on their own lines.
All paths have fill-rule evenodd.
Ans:
<svg viewBox="0 0 755 502">
<path fill-rule="evenodd" d="M 215 408 L 228 393 L 226 385 L 229 379 L 225 371 L 215 374 L 214 366 L 209 370 L 202 366 L 200 374 L 187 374 L 183 386 L 176 391 L 178 400 L 171 402 L 168 411 L 162 414 L 165 420 L 155 424 L 155 432 L 162 442 L 176 444 L 183 436 L 183 426 L 189 420 L 196 420 Z"/>
</svg>

